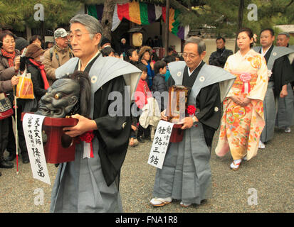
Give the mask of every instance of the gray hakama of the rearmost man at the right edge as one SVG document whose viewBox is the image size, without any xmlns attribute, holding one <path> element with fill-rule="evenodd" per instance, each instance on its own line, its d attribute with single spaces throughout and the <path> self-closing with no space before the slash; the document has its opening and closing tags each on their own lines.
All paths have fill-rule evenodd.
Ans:
<svg viewBox="0 0 294 227">
<path fill-rule="evenodd" d="M 275 120 L 275 126 L 285 128 L 294 124 L 294 95 L 291 84 L 287 85 L 288 96 L 278 99 L 278 114 Z"/>
</svg>

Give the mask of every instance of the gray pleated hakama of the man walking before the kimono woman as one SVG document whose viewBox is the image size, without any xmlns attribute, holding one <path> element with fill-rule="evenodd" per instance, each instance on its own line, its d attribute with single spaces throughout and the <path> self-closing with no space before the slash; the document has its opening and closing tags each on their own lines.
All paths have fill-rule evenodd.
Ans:
<svg viewBox="0 0 294 227">
<path fill-rule="evenodd" d="M 211 150 L 201 123 L 184 131 L 180 143 L 171 143 L 162 170 L 157 169 L 153 196 L 200 204 L 211 195 Z"/>
</svg>

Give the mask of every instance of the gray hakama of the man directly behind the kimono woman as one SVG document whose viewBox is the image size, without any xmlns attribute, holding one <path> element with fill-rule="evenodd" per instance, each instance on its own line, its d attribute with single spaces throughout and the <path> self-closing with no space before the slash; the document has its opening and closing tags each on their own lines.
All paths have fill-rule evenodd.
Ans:
<svg viewBox="0 0 294 227">
<path fill-rule="evenodd" d="M 261 141 L 263 143 L 271 140 L 275 132 L 275 116 L 277 113 L 277 106 L 275 96 L 273 94 L 273 82 L 268 82 L 268 89 L 263 100 L 263 114 L 266 125 L 261 133 Z"/>
</svg>

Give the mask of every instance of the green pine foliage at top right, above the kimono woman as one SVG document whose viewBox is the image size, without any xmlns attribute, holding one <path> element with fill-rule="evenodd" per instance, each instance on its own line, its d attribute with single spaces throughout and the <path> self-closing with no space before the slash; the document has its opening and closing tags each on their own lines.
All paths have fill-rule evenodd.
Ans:
<svg viewBox="0 0 294 227">
<path fill-rule="evenodd" d="M 233 37 L 238 26 L 238 0 L 183 0 L 192 11 L 182 13 L 179 20 L 183 26 L 189 25 L 191 29 L 203 29 Z M 249 4 L 258 6 L 258 21 L 249 21 L 247 9 Z M 196 6 L 196 7 L 195 7 Z M 279 24 L 290 24 L 294 21 L 294 0 L 245 0 L 243 10 L 243 27 L 248 27 L 258 34 L 262 28 L 273 28 Z"/>
</svg>

